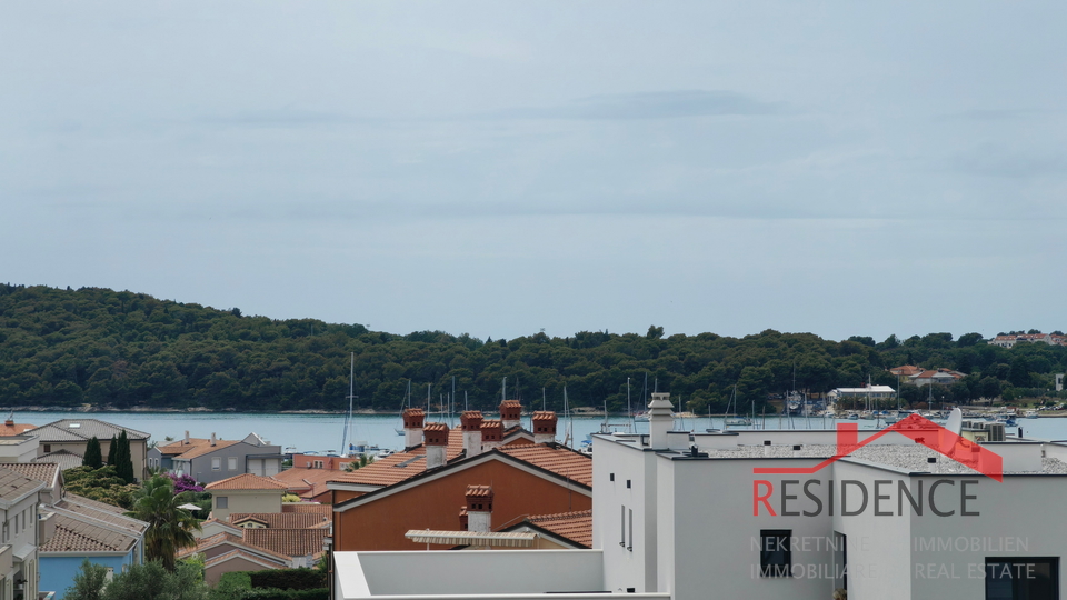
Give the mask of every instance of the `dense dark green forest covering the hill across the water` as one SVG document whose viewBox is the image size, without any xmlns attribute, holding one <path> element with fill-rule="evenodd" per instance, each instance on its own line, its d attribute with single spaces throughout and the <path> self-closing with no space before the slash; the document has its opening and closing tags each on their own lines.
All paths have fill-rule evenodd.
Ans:
<svg viewBox="0 0 1067 600">
<path fill-rule="evenodd" d="M 356 353 L 358 406 L 397 410 L 408 381 L 412 401 L 436 404 L 457 390 L 471 408 L 491 409 L 501 381 L 540 407 L 626 407 L 631 378 L 635 406 L 645 374 L 679 396 L 694 411 L 721 411 L 734 386 L 741 407 L 794 388 L 824 392 L 868 380 L 896 387 L 886 371 L 899 364 L 949 368 L 968 373 L 946 400 L 1040 396 L 1053 373 L 1067 371 L 1067 348 L 1020 343 L 1004 349 L 978 333 L 954 339 L 930 333 L 876 342 L 869 337 L 824 340 L 811 333 L 767 330 L 745 338 L 714 333 L 664 337 L 582 331 L 568 338 L 545 333 L 512 340 L 479 340 L 421 331 L 407 336 L 369 331 L 361 324 L 315 319 L 243 317 L 159 300 L 143 293 L 82 288 L 0 284 L 0 402 L 7 407 L 110 406 L 222 410 L 342 410 L 348 406 L 349 352 Z M 908 400 L 925 390 L 905 386 Z M 744 410 L 744 409 L 742 409 Z"/>
</svg>

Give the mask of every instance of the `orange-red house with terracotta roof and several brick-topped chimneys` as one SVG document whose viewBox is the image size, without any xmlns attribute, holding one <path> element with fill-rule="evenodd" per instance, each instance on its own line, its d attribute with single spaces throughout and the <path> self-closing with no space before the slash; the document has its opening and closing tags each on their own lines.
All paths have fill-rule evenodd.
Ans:
<svg viewBox="0 0 1067 600">
<path fill-rule="evenodd" d="M 511 404 L 501 407 L 513 411 Z M 509 412 L 506 417 L 513 414 Z M 449 431 L 427 423 L 426 444 L 339 474 L 328 483 L 335 493 L 336 550 L 423 550 L 405 534 L 412 529 L 458 531 L 459 512 L 471 486 L 491 486 L 493 527 L 511 526 L 530 514 L 589 510 L 592 460 L 551 441 L 532 443 L 515 428 L 496 440 L 500 421 L 478 411 L 462 416 Z M 509 419 L 510 420 L 510 419 Z M 536 434 L 555 439 L 555 414 L 541 413 Z M 486 426 L 489 424 L 487 429 Z M 488 443 L 479 433 L 488 432 Z M 499 444 L 499 446 L 496 446 Z M 429 461 L 430 467 L 427 468 Z"/>
</svg>

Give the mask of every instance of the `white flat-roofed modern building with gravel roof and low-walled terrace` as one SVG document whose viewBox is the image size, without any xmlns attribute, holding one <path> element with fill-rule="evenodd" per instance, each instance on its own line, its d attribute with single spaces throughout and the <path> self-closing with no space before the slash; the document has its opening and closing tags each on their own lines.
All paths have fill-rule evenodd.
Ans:
<svg viewBox="0 0 1067 600">
<path fill-rule="evenodd" d="M 592 550 L 337 552 L 335 598 L 1067 598 L 1067 446 L 674 432 L 669 407 L 595 438 Z"/>
</svg>

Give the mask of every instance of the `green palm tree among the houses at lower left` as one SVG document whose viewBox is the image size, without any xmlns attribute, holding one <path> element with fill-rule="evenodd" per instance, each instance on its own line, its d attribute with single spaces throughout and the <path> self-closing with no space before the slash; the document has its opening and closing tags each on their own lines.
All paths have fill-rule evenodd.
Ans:
<svg viewBox="0 0 1067 600">
<path fill-rule="evenodd" d="M 148 523 L 144 558 L 159 560 L 168 571 L 174 570 L 178 550 L 197 544 L 192 532 L 200 530 L 192 513 L 178 508 L 180 503 L 170 478 L 153 476 L 133 494 L 133 510 L 127 513 Z"/>
</svg>

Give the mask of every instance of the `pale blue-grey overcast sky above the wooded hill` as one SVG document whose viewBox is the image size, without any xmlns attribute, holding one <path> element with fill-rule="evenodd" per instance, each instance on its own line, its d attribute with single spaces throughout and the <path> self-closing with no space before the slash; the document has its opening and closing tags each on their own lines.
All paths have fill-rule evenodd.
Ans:
<svg viewBox="0 0 1067 600">
<path fill-rule="evenodd" d="M 0 278 L 485 339 L 1067 329 L 1067 3 L 0 4 Z"/>
</svg>

